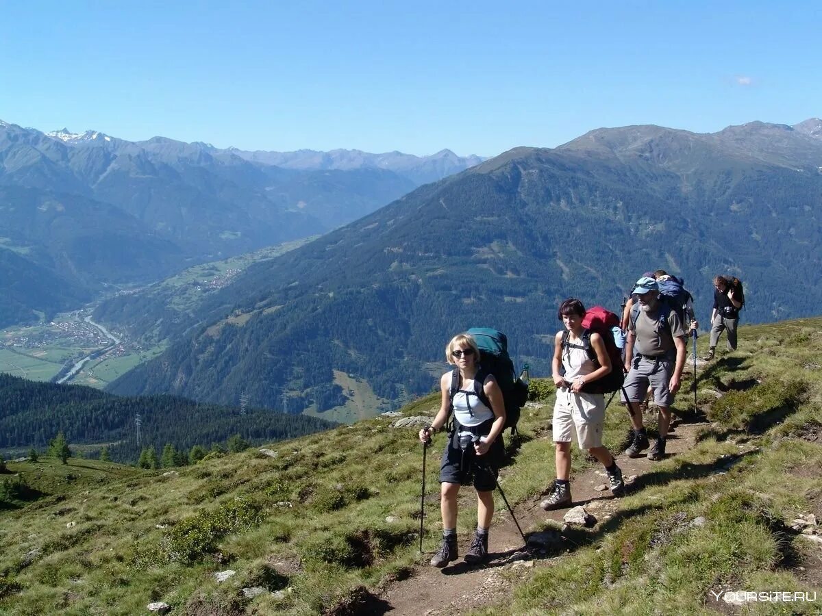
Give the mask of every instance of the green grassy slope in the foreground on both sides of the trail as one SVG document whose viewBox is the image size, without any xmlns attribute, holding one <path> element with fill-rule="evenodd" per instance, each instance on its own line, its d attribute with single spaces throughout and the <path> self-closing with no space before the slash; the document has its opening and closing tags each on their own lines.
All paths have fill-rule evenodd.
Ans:
<svg viewBox="0 0 822 616">
<path fill-rule="evenodd" d="M 805 544 L 783 521 L 822 517 L 822 446 L 808 436 L 822 421 L 820 330 L 822 319 L 743 326 L 740 351 L 700 380 L 700 407 L 710 407 L 712 422 L 698 446 L 660 462 L 617 516 L 580 532 L 580 549 L 527 575 L 512 572 L 513 602 L 482 613 L 699 614 L 711 613 L 711 590 L 812 590 L 791 567 Z M 722 389 L 732 391 L 717 401 Z M 689 400 L 681 396 L 683 408 Z M 423 398 L 404 412 L 429 414 L 436 403 Z M 618 407 L 609 412 L 612 448 L 626 420 Z M 179 476 L 122 469 L 76 485 L 59 480 L 74 462 L 11 463 L 36 489 L 62 496 L 0 511 L 0 613 L 136 614 L 164 600 L 177 614 L 315 614 L 356 586 L 401 576 L 418 559 L 421 449 L 415 429 L 389 425 L 361 421 L 277 444 L 275 458 L 249 451 Z M 550 403 L 526 411 L 520 425 L 544 434 Z M 429 494 L 442 439 L 429 454 Z M 550 439 L 523 445 L 503 471 L 510 502 L 543 490 L 552 459 Z M 575 456 L 575 472 L 587 463 Z M 77 464 L 89 472 L 97 465 Z M 284 502 L 291 506 L 277 504 Z M 436 543 L 435 508 L 436 499 L 427 506 L 426 549 Z M 471 509 L 460 512 L 464 531 L 475 523 Z M 688 526 L 700 515 L 704 526 Z M 215 582 L 211 573 L 229 568 L 237 574 Z M 293 593 L 249 601 L 244 586 Z"/>
</svg>

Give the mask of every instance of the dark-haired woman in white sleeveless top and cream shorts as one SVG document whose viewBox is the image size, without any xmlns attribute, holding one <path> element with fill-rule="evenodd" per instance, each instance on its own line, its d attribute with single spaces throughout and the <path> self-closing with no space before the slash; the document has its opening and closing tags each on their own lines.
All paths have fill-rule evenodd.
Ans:
<svg viewBox="0 0 822 616">
<path fill-rule="evenodd" d="M 585 329 L 582 319 L 585 306 L 574 297 L 563 301 L 556 313 L 565 326 L 554 337 L 554 359 L 552 373 L 556 385 L 556 402 L 552 430 L 556 446 L 556 480 L 551 494 L 540 503 L 546 511 L 564 508 L 571 503 L 570 496 L 570 446 L 571 436 L 575 436 L 580 449 L 587 449 L 593 457 L 602 462 L 614 496 L 625 491 L 622 471 L 617 461 L 603 447 L 603 425 L 605 424 L 605 396 L 602 393 L 583 393 L 582 388 L 597 379 L 602 379 L 613 366 L 608 356 L 603 337 L 590 332 L 590 346 L 596 352 L 594 363 L 585 350 L 583 336 Z M 567 335 L 566 335 L 567 331 Z"/>
</svg>

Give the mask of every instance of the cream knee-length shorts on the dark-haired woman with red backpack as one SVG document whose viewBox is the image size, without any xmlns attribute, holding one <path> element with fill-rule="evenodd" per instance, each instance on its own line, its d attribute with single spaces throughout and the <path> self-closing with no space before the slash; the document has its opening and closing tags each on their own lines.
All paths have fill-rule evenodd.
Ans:
<svg viewBox="0 0 822 616">
<path fill-rule="evenodd" d="M 605 396 L 602 393 L 570 393 L 568 388 L 556 390 L 554 402 L 554 443 L 570 443 L 576 436 L 580 449 L 603 446 Z"/>
</svg>

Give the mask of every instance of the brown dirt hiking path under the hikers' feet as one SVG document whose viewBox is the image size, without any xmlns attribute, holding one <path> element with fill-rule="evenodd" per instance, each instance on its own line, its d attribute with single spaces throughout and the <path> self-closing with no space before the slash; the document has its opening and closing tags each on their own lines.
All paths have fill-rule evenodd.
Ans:
<svg viewBox="0 0 822 616">
<path fill-rule="evenodd" d="M 677 456 L 679 453 L 692 448 L 695 444 L 695 434 L 699 424 L 677 422 L 667 443 L 667 457 Z M 550 439 L 551 434 L 547 437 Z M 644 452 L 647 453 L 647 452 Z M 645 456 L 631 459 L 625 455 L 617 456 L 617 463 L 624 476 L 642 476 L 651 470 L 655 462 Z M 575 450 L 575 455 L 580 455 Z M 505 486 L 503 469 L 501 477 Z M 553 458 L 546 461 L 546 476 L 553 475 Z M 617 510 L 617 502 L 610 490 L 598 491 L 595 487 L 607 484 L 607 477 L 601 468 L 592 468 L 581 475 L 572 478 L 571 494 L 574 498 L 572 507 L 584 505 L 585 510 L 597 518 L 597 528 L 612 517 Z M 630 490 L 630 485 L 629 485 Z M 473 497 L 473 492 L 465 490 Z M 516 568 L 532 568 L 547 566 L 552 559 L 561 558 L 566 549 L 575 546 L 570 539 L 559 533 L 553 533 L 553 543 L 549 549 L 531 548 L 526 550 L 522 536 L 510 517 L 505 503 L 495 494 L 496 508 L 505 511 L 502 522 L 492 526 L 488 550 L 490 559 L 481 567 L 469 567 L 460 558 L 444 569 L 436 569 L 427 565 L 432 554 L 425 554 L 425 564 L 414 568 L 410 577 L 386 585 L 373 595 L 363 598 L 359 609 L 349 611 L 349 614 L 409 614 L 420 616 L 450 616 L 462 614 L 468 609 L 496 603 L 511 591 L 511 582 L 503 572 Z M 526 536 L 543 527 L 546 520 L 562 522 L 562 517 L 568 508 L 552 512 L 544 512 L 539 507 L 542 496 L 519 503 L 515 507 L 515 515 Z M 460 506 L 473 506 L 473 500 L 460 503 Z M 468 549 L 471 537 L 460 537 L 459 554 Z M 565 541 L 566 545 L 562 542 Z M 552 557 L 552 558 L 550 558 Z M 352 606 L 353 607 L 353 606 Z"/>
</svg>

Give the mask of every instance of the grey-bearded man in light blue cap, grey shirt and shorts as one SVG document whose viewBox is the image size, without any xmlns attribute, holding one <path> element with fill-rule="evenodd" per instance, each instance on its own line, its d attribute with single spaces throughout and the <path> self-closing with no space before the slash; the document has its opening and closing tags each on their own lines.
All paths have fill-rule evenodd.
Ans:
<svg viewBox="0 0 822 616">
<path fill-rule="evenodd" d="M 677 310 L 660 301 L 656 280 L 640 278 L 633 293 L 637 295 L 639 307 L 632 311 L 628 324 L 625 365 L 628 374 L 623 389 L 623 398 L 627 397 L 625 402 L 630 407 L 633 439 L 625 453 L 628 457 L 639 457 L 640 452 L 649 447 L 639 402 L 650 386 L 658 407 L 659 436 L 648 459 L 662 460 L 671 422 L 670 407 L 681 386 L 685 367 L 687 333 Z"/>
</svg>

